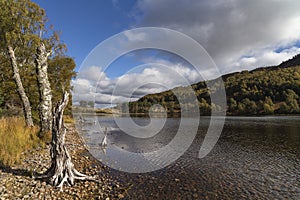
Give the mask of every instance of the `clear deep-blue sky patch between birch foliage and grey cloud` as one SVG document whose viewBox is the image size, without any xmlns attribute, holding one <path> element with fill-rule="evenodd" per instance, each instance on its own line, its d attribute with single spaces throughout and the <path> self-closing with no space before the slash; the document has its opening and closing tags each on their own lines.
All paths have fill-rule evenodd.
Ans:
<svg viewBox="0 0 300 200">
<path fill-rule="evenodd" d="M 68 55 L 77 69 L 89 52 L 101 41 L 126 30 L 133 23 L 129 15 L 135 1 L 34 0 L 46 10 L 49 23 L 61 31 Z"/>
</svg>

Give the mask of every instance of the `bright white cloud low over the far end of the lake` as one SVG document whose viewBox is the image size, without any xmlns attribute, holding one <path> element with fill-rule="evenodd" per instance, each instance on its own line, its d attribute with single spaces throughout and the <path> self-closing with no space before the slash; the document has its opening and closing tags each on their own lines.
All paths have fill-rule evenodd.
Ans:
<svg viewBox="0 0 300 200">
<path fill-rule="evenodd" d="M 166 60 L 139 66 L 135 70 L 140 72 L 129 71 L 114 79 L 108 78 L 99 70 L 102 68 L 94 66 L 79 72 L 81 78 L 72 82 L 74 102 L 95 100 L 98 104 L 115 104 L 135 101 L 146 94 L 190 85 L 200 80 L 200 75 L 195 69 Z M 97 71 L 103 78 L 98 79 L 95 75 L 87 76 L 92 71 Z"/>
</svg>

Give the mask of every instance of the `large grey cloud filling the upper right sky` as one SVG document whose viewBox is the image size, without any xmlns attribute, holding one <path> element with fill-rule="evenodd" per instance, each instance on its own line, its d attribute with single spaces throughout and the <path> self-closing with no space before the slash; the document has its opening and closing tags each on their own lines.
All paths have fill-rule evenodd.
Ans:
<svg viewBox="0 0 300 200">
<path fill-rule="evenodd" d="M 283 61 L 279 58 L 294 56 L 297 51 L 275 50 L 300 41 L 299 8 L 297 0 L 139 0 L 137 13 L 142 16 L 137 16 L 136 26 L 166 27 L 191 36 L 220 71 L 228 73 L 279 64 Z"/>
</svg>

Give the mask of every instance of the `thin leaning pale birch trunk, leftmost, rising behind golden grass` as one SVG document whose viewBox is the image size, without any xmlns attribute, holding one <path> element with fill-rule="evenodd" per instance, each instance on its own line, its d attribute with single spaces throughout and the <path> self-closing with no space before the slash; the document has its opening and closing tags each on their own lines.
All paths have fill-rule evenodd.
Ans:
<svg viewBox="0 0 300 200">
<path fill-rule="evenodd" d="M 9 58 L 10 58 L 10 62 L 11 62 L 12 70 L 13 70 L 13 78 L 17 85 L 17 91 L 18 91 L 18 94 L 19 94 L 22 104 L 23 104 L 26 125 L 30 127 L 30 126 L 33 126 L 30 102 L 25 93 L 25 90 L 24 90 L 24 87 L 23 87 L 23 84 L 22 84 L 22 81 L 20 78 L 19 67 L 17 64 L 16 57 L 15 57 L 15 52 L 11 46 L 8 46 L 7 48 L 8 48 L 8 54 L 9 54 Z"/>
</svg>

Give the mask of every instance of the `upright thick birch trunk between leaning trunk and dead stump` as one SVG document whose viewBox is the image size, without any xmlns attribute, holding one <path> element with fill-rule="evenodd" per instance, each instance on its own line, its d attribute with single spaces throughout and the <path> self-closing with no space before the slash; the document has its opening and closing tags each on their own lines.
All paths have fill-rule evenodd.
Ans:
<svg viewBox="0 0 300 200">
<path fill-rule="evenodd" d="M 46 133 L 52 129 L 52 91 L 48 79 L 48 56 L 44 44 L 37 48 L 36 72 L 40 94 L 40 126 L 41 132 Z"/>
</svg>

